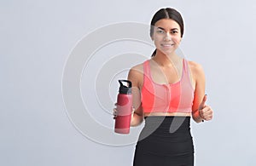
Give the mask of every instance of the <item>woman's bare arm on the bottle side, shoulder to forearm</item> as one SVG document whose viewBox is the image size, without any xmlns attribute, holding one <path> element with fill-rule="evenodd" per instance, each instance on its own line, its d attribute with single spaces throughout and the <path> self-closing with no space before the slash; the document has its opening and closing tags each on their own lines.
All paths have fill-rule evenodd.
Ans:
<svg viewBox="0 0 256 166">
<path fill-rule="evenodd" d="M 132 83 L 132 104 L 134 112 L 131 114 L 131 126 L 143 123 L 144 114 L 141 102 L 141 88 L 143 87 L 143 65 L 134 66 L 128 74 L 128 80 Z"/>
</svg>

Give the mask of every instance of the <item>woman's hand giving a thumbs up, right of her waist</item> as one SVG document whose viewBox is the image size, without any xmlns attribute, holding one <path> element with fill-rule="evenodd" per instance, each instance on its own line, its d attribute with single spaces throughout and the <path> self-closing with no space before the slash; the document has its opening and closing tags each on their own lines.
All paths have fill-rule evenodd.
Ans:
<svg viewBox="0 0 256 166">
<path fill-rule="evenodd" d="M 201 104 L 199 105 L 199 115 L 203 120 L 209 121 L 212 119 L 212 108 L 210 106 L 206 105 L 207 102 L 207 94 L 204 95 L 203 100 L 201 101 Z"/>
</svg>

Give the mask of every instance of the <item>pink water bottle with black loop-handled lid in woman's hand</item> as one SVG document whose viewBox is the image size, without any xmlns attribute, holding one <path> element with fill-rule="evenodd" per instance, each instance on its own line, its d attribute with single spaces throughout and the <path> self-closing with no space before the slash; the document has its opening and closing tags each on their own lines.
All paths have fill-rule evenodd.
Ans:
<svg viewBox="0 0 256 166">
<path fill-rule="evenodd" d="M 123 82 L 128 83 L 128 86 L 125 86 Z M 115 118 L 114 132 L 119 134 L 129 134 L 132 112 L 131 81 L 119 80 L 119 83 L 117 117 Z"/>
</svg>

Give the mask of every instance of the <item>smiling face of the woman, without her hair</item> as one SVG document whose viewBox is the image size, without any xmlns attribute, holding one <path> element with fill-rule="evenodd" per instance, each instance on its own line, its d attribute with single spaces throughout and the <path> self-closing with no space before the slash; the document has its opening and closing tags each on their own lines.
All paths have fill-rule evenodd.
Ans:
<svg viewBox="0 0 256 166">
<path fill-rule="evenodd" d="M 154 25 L 152 39 L 156 49 L 164 54 L 172 54 L 182 39 L 180 26 L 175 20 L 158 20 Z"/>
</svg>

